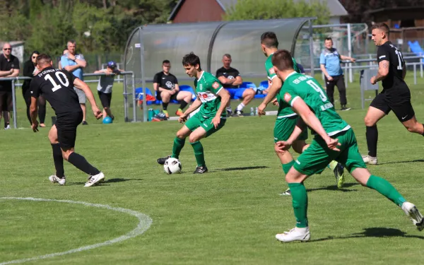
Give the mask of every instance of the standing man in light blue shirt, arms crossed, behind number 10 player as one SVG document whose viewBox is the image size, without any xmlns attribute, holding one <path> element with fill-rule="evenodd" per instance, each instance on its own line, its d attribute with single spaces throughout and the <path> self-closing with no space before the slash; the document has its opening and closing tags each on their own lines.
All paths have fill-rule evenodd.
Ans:
<svg viewBox="0 0 424 265">
<path fill-rule="evenodd" d="M 87 62 L 84 59 L 83 54 L 76 54 L 76 42 L 75 40 L 69 40 L 67 46 L 68 52 L 60 59 L 60 64 L 63 69 L 73 73 L 74 76 L 84 81 L 83 69 L 86 68 Z M 73 88 L 78 95 L 78 100 L 83 110 L 83 125 L 88 125 L 86 121 L 86 94 L 83 90 Z"/>
</svg>

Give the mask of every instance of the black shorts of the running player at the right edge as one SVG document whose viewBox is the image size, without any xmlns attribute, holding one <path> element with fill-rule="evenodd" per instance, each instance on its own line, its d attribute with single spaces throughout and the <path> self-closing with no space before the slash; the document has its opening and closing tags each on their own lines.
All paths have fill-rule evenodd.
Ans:
<svg viewBox="0 0 424 265">
<path fill-rule="evenodd" d="M 393 110 L 399 122 L 406 122 L 415 116 L 411 105 L 411 93 L 396 96 L 396 102 L 387 99 L 386 93 L 380 93 L 372 100 L 370 106 L 381 110 L 386 115 Z"/>
</svg>

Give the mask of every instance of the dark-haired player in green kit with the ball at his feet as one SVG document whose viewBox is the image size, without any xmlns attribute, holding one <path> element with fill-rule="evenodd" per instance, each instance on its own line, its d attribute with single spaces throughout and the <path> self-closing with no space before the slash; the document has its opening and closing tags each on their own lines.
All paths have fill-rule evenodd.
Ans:
<svg viewBox="0 0 424 265">
<path fill-rule="evenodd" d="M 194 149 L 197 167 L 194 174 L 208 172 L 204 158 L 204 148 L 200 139 L 210 136 L 225 125 L 225 106 L 230 100 L 230 93 L 223 89 L 220 81 L 211 73 L 203 71 L 200 67 L 200 59 L 193 52 L 182 58 L 182 65 L 190 77 L 196 78 L 194 87 L 197 98 L 193 104 L 181 115 L 178 121 L 186 122 L 174 139 L 172 155 L 159 158 L 158 163 L 163 165 L 167 158 L 178 158 L 184 147 L 185 139 L 189 137 L 190 144 Z M 200 107 L 192 117 L 189 114 Z"/>
</svg>

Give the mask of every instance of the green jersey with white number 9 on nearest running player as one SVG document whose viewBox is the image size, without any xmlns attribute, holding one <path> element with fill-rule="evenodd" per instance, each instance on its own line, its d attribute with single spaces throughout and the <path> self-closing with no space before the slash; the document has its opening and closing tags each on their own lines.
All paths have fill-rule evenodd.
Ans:
<svg viewBox="0 0 424 265">
<path fill-rule="evenodd" d="M 283 93 L 284 101 L 290 106 L 293 106 L 293 102 L 302 98 L 315 113 L 329 136 L 351 129 L 351 126 L 341 119 L 334 110 L 334 106 L 329 102 L 325 91 L 312 76 L 305 76 L 293 71 L 285 79 L 281 93 Z"/>
</svg>

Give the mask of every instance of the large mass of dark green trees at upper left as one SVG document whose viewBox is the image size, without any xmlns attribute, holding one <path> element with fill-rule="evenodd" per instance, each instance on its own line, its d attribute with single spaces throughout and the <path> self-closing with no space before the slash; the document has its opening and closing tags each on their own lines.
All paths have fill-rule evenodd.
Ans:
<svg viewBox="0 0 424 265">
<path fill-rule="evenodd" d="M 177 0 L 3 0 L 0 40 L 25 52 L 60 54 L 69 39 L 81 52 L 122 52 L 134 28 L 165 23 Z"/>
</svg>

